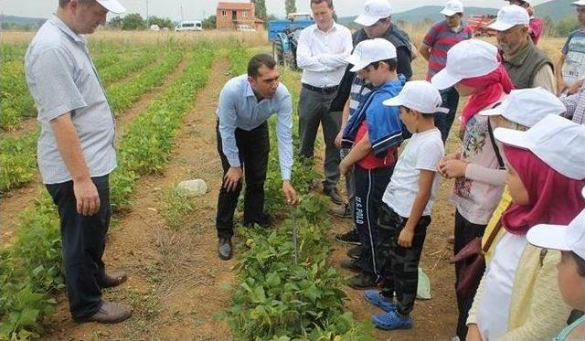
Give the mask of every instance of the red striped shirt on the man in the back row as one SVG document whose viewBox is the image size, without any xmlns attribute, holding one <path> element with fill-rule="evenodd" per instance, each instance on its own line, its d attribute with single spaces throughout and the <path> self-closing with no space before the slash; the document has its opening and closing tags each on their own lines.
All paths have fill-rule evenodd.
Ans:
<svg viewBox="0 0 585 341">
<path fill-rule="evenodd" d="M 472 28 L 465 23 L 461 23 L 459 30 L 453 31 L 447 21 L 443 20 L 435 23 L 422 43 L 431 48 L 431 56 L 429 57 L 429 72 L 427 72 L 426 80 L 431 80 L 437 72 L 441 71 L 447 63 L 447 51 L 453 45 L 460 41 L 471 39 L 473 37 Z"/>
</svg>

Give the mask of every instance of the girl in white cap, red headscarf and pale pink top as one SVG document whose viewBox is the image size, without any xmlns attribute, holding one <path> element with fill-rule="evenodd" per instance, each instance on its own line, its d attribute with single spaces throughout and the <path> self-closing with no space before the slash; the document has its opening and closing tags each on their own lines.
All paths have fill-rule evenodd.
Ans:
<svg viewBox="0 0 585 341">
<path fill-rule="evenodd" d="M 498 61 L 495 46 L 477 39 L 463 40 L 447 52 L 447 63 L 431 80 L 439 90 L 454 86 L 462 97 L 469 97 L 462 111 L 463 145 L 445 155 L 439 164 L 441 175 L 454 178 L 452 202 L 456 206 L 453 253 L 476 238 L 484 229 L 497 206 L 504 189 L 505 172 L 495 154 L 495 144 L 489 136 L 487 117 L 478 115 L 491 109 L 512 91 L 512 81 Z M 462 134 L 460 133 L 460 136 Z M 464 263 L 455 264 L 455 285 L 463 282 Z M 457 291 L 459 318 L 457 335 L 464 339 L 467 312 L 473 303 L 474 289 L 482 272 L 466 291 Z"/>
</svg>

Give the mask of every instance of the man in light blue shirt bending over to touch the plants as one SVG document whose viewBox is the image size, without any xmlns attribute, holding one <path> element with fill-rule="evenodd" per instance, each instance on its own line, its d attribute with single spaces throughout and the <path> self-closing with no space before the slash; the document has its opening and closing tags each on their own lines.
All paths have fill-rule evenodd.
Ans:
<svg viewBox="0 0 585 341">
<path fill-rule="evenodd" d="M 259 54 L 248 63 L 248 74 L 229 80 L 219 94 L 218 152 L 223 167 L 219 190 L 218 255 L 229 260 L 232 255 L 233 217 L 241 191 L 241 177 L 246 179 L 244 225 L 270 224 L 264 213 L 264 181 L 270 151 L 267 120 L 278 117 L 278 155 L 282 174 L 282 192 L 286 201 L 297 201 L 291 185 L 293 169 L 293 118 L 291 94 L 279 83 L 280 74 L 270 55 Z M 245 172 L 244 172 L 245 171 Z"/>
</svg>

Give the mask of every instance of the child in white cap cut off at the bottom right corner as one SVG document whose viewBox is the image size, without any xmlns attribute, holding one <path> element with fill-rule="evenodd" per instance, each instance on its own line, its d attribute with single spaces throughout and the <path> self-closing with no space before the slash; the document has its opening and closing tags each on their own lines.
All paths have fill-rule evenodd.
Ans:
<svg viewBox="0 0 585 341">
<path fill-rule="evenodd" d="M 585 210 L 568 226 L 535 226 L 528 231 L 527 240 L 538 248 L 560 250 L 558 289 L 566 304 L 581 312 L 585 311 Z M 569 340 L 585 340 L 585 315 L 555 337 L 555 341 Z"/>
</svg>

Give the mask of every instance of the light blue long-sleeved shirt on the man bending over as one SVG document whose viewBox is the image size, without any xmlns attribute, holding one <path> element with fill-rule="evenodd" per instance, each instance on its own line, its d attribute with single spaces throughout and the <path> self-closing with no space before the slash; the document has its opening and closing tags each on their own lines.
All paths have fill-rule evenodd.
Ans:
<svg viewBox="0 0 585 341">
<path fill-rule="evenodd" d="M 248 81 L 248 75 L 229 80 L 219 94 L 218 104 L 221 145 L 229 165 L 232 167 L 241 165 L 236 144 L 236 128 L 253 130 L 275 113 L 278 118 L 276 135 L 282 180 L 289 180 L 293 169 L 292 111 L 291 94 L 282 83 L 271 99 L 258 101 Z"/>
</svg>

